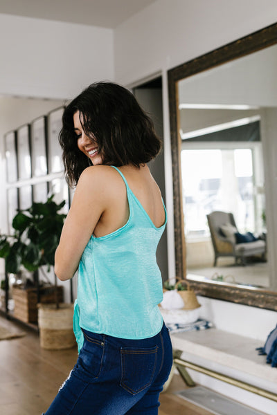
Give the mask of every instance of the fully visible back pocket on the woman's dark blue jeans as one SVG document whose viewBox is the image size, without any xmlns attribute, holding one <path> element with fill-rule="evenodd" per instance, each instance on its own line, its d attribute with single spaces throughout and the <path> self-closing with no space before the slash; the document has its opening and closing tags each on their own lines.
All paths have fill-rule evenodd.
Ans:
<svg viewBox="0 0 277 415">
<path fill-rule="evenodd" d="M 134 349 L 122 347 L 120 386 L 136 395 L 151 385 L 157 365 L 158 347 Z"/>
</svg>

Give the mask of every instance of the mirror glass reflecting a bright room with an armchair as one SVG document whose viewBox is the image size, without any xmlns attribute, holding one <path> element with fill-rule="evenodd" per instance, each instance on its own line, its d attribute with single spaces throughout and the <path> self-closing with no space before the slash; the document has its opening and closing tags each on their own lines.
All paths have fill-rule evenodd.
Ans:
<svg viewBox="0 0 277 415">
<path fill-rule="evenodd" d="M 178 82 L 187 278 L 276 288 L 277 46 Z"/>
</svg>

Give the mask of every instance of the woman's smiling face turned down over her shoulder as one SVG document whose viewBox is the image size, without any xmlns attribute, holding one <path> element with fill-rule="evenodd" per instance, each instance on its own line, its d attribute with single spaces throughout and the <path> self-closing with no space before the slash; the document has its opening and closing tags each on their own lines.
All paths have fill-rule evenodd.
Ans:
<svg viewBox="0 0 277 415">
<path fill-rule="evenodd" d="M 73 115 L 73 122 L 78 149 L 91 160 L 93 165 L 102 165 L 102 157 L 98 153 L 97 142 L 86 135 L 80 120 L 82 120 L 82 114 L 80 114 L 80 111 L 76 111 Z"/>
</svg>

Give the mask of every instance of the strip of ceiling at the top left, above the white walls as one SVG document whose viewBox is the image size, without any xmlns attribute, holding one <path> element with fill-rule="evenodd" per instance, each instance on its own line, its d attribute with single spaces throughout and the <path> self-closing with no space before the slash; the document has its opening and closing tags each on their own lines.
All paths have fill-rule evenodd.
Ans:
<svg viewBox="0 0 277 415">
<path fill-rule="evenodd" d="M 155 0 L 0 0 L 0 13 L 114 29 Z"/>
</svg>

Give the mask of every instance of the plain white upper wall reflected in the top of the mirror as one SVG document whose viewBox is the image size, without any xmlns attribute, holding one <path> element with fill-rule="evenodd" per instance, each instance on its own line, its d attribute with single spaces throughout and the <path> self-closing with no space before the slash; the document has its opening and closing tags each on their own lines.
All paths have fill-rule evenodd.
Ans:
<svg viewBox="0 0 277 415">
<path fill-rule="evenodd" d="M 235 59 L 179 82 L 179 102 L 275 107 L 277 46 Z"/>
</svg>

